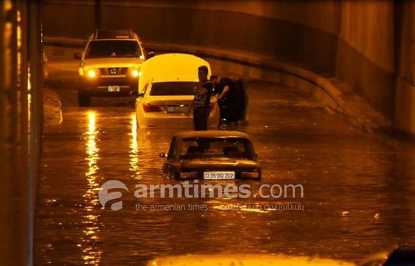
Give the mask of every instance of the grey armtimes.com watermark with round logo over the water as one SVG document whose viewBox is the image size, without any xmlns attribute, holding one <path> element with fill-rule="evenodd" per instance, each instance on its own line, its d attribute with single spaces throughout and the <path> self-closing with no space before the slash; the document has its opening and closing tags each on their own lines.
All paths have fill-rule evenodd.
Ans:
<svg viewBox="0 0 415 266">
<path fill-rule="evenodd" d="M 109 192 L 113 189 L 129 191 L 127 186 L 118 180 L 109 180 L 102 184 L 98 193 L 98 198 L 102 206 L 109 200 L 116 200 L 122 197 L 120 191 Z M 192 183 L 185 181 L 183 184 L 136 184 L 134 196 L 140 198 L 304 198 L 304 187 L 302 184 L 262 184 L 257 193 L 251 191 L 250 184 L 199 184 L 199 180 Z M 299 209 L 304 206 L 298 206 Z M 283 209 L 283 207 L 273 207 L 273 209 Z M 293 210 L 293 207 L 284 207 L 286 210 Z M 111 204 L 113 211 L 122 209 L 122 200 Z M 234 208 L 232 208 L 233 210 Z"/>
</svg>

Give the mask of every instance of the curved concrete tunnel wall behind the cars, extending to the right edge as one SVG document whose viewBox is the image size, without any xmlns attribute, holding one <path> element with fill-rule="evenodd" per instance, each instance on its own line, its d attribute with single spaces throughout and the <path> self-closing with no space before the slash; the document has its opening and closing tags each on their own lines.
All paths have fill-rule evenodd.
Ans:
<svg viewBox="0 0 415 266">
<path fill-rule="evenodd" d="M 48 37 L 86 38 L 95 1 L 44 1 Z M 144 43 L 198 46 L 288 62 L 344 82 L 415 133 L 410 1 L 100 1 L 101 28 Z"/>
</svg>

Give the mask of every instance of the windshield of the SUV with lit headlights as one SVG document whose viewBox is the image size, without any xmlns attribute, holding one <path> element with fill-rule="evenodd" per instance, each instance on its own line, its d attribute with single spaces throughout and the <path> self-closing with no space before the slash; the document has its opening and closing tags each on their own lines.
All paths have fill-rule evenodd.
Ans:
<svg viewBox="0 0 415 266">
<path fill-rule="evenodd" d="M 141 51 L 137 41 L 113 40 L 91 41 L 86 50 L 86 59 L 99 57 L 140 57 Z"/>
</svg>

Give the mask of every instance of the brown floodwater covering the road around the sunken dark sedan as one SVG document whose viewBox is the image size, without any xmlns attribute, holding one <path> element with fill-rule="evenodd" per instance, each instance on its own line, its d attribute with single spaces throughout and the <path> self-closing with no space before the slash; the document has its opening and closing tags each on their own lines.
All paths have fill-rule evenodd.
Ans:
<svg viewBox="0 0 415 266">
<path fill-rule="evenodd" d="M 160 256 L 219 253 L 353 261 L 415 243 L 413 144 L 389 146 L 284 88 L 248 86 L 250 123 L 237 130 L 250 134 L 263 167 L 262 180 L 248 182 L 250 190 L 257 195 L 261 184 L 302 184 L 304 198 L 135 198 L 136 184 L 180 183 L 161 176 L 158 155 L 183 130 L 136 129 L 133 104 L 64 108 L 63 124 L 45 129 L 37 265 L 145 265 Z M 108 180 L 129 189 L 120 190 L 120 211 L 98 200 Z M 288 203 L 304 210 L 276 207 Z M 137 204 L 186 209 L 145 211 Z"/>
</svg>

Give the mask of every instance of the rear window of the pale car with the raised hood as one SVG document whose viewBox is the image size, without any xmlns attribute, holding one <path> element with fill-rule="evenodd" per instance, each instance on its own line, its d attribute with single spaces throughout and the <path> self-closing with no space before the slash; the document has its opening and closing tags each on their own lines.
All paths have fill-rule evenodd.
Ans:
<svg viewBox="0 0 415 266">
<path fill-rule="evenodd" d="M 151 96 L 194 95 L 196 82 L 157 82 L 151 86 Z"/>
</svg>

